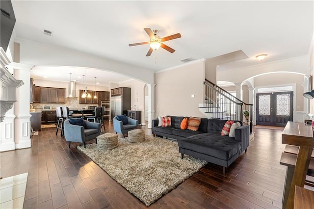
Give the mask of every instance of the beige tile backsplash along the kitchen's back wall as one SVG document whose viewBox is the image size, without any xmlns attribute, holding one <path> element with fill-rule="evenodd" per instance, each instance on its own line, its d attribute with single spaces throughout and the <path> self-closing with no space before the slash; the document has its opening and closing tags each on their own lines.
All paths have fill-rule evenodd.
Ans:
<svg viewBox="0 0 314 209">
<path fill-rule="evenodd" d="M 98 104 L 79 104 L 78 97 L 67 97 L 64 103 L 33 103 L 34 109 L 43 109 L 43 106 L 51 106 L 54 109 L 56 106 L 67 106 L 69 108 L 88 108 L 88 106 L 94 106 Z"/>
</svg>

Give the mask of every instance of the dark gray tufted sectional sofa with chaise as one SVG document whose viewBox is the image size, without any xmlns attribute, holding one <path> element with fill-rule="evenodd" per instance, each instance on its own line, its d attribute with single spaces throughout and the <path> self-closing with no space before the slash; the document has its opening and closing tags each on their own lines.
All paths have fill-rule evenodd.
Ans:
<svg viewBox="0 0 314 209">
<path fill-rule="evenodd" d="M 171 127 L 160 127 L 158 120 L 153 120 L 152 130 L 154 136 L 178 140 L 182 158 L 185 154 L 221 165 L 225 174 L 225 168 L 249 146 L 250 127 L 242 125 L 241 121 L 241 127 L 235 129 L 235 137 L 229 137 L 221 135 L 227 120 L 202 118 L 198 131 L 191 131 L 180 128 L 183 118 L 171 116 Z"/>
</svg>

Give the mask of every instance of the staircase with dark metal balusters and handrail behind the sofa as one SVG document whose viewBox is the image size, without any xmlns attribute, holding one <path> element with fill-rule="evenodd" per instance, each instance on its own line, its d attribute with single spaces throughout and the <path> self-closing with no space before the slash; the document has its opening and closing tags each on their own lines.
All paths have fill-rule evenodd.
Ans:
<svg viewBox="0 0 314 209">
<path fill-rule="evenodd" d="M 250 126 L 252 132 L 253 104 L 244 103 L 207 79 L 204 81 L 204 88 L 204 103 L 199 104 L 199 110 L 207 118 L 242 121 L 243 124 Z"/>
</svg>

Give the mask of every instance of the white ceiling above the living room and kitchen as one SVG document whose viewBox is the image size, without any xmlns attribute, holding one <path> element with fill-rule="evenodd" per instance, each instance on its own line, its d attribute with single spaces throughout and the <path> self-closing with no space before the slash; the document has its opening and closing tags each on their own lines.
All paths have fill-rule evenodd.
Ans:
<svg viewBox="0 0 314 209">
<path fill-rule="evenodd" d="M 158 71 L 180 60 L 210 58 L 242 50 L 249 58 L 223 64 L 219 70 L 272 62 L 309 52 L 313 37 L 313 1 L 28 1 L 12 0 L 19 39 L 81 51 Z M 159 49 L 146 57 L 149 41 L 144 27 L 160 37 L 180 32 L 165 42 L 174 53 Z M 43 29 L 53 36 L 44 35 Z M 157 63 L 155 63 L 157 61 Z M 45 74 L 51 69 L 34 69 Z M 77 69 L 78 70 L 78 69 Z M 79 75 L 84 74 L 80 69 Z M 52 74 L 69 79 L 69 71 Z M 109 76 L 99 75 L 105 83 Z M 103 78 L 101 78 L 103 77 Z M 87 75 L 94 83 L 94 75 Z M 113 78 L 111 78 L 111 82 Z M 117 78 L 118 80 L 129 79 Z"/>
</svg>

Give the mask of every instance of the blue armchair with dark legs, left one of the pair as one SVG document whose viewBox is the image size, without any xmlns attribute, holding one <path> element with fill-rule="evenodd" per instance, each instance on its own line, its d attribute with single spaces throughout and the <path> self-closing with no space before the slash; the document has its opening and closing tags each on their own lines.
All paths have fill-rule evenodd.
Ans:
<svg viewBox="0 0 314 209">
<path fill-rule="evenodd" d="M 96 139 L 97 136 L 101 134 L 100 123 L 93 123 L 83 120 L 86 129 L 83 126 L 73 125 L 70 120 L 64 121 L 64 136 L 65 140 L 69 142 L 69 148 L 71 146 L 71 141 L 80 142 L 84 144 L 86 148 L 86 141 Z"/>
</svg>

